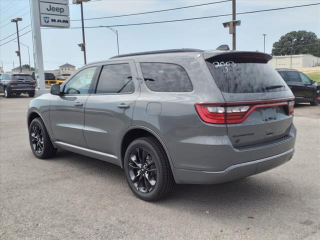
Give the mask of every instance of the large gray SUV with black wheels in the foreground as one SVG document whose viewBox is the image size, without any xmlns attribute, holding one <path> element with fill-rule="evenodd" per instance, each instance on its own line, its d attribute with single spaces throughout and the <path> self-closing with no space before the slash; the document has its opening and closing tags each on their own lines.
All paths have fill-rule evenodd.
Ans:
<svg viewBox="0 0 320 240">
<path fill-rule="evenodd" d="M 294 96 L 260 52 L 172 49 L 89 63 L 30 101 L 33 154 L 119 165 L 143 200 L 291 159 Z"/>
</svg>

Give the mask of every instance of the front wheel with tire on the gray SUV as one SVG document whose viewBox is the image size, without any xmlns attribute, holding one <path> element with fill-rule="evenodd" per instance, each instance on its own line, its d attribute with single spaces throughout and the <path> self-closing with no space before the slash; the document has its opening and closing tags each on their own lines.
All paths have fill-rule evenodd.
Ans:
<svg viewBox="0 0 320 240">
<path fill-rule="evenodd" d="M 40 159 L 54 156 L 57 150 L 40 117 L 34 118 L 29 125 L 29 143 L 34 156 Z"/>
</svg>

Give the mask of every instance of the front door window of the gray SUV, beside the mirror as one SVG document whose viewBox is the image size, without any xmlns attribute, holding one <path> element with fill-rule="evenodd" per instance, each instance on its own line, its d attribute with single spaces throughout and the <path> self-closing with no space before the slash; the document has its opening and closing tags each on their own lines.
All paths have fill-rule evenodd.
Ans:
<svg viewBox="0 0 320 240">
<path fill-rule="evenodd" d="M 64 94 L 87 94 L 96 66 L 87 67 L 76 73 L 65 85 Z"/>
</svg>

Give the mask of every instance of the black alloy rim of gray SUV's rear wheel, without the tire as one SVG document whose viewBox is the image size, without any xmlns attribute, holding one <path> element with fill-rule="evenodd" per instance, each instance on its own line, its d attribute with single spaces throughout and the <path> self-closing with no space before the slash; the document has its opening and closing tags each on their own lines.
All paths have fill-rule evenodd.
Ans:
<svg viewBox="0 0 320 240">
<path fill-rule="evenodd" d="M 129 156 L 129 175 L 133 185 L 140 192 L 147 193 L 156 184 L 156 165 L 152 155 L 143 147 L 134 148 Z"/>
</svg>

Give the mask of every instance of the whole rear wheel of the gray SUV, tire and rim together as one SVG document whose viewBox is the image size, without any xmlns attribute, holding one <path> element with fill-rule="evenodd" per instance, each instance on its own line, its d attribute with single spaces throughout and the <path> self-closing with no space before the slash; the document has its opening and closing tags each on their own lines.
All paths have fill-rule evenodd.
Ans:
<svg viewBox="0 0 320 240">
<path fill-rule="evenodd" d="M 173 188 L 174 179 L 167 155 L 154 137 L 133 140 L 125 151 L 123 166 L 130 189 L 142 200 L 159 200 Z"/>
</svg>

